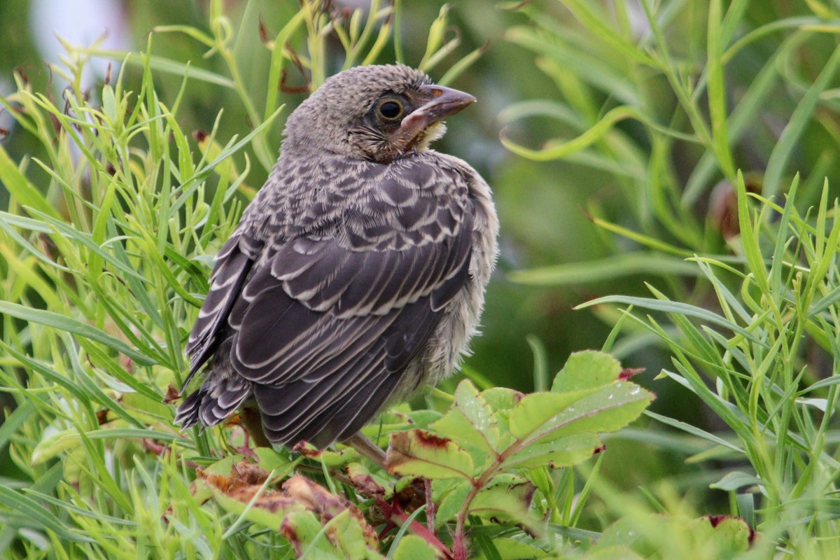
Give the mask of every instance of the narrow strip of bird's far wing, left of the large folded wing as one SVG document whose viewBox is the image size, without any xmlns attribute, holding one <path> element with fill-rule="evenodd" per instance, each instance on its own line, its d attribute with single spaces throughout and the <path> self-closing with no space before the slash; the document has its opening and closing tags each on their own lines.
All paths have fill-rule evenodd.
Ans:
<svg viewBox="0 0 840 560">
<path fill-rule="evenodd" d="M 210 291 L 204 299 L 198 318 L 186 342 L 186 355 L 190 357 L 190 374 L 184 388 L 207 362 L 218 347 L 218 333 L 223 330 L 234 302 L 242 290 L 245 278 L 260 254 L 262 243 L 241 233 L 234 233 L 216 255 Z"/>
</svg>

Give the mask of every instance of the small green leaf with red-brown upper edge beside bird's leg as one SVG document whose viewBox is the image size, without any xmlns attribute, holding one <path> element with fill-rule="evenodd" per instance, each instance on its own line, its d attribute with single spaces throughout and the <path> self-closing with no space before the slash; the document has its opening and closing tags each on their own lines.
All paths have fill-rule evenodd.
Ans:
<svg viewBox="0 0 840 560">
<path fill-rule="evenodd" d="M 424 479 L 472 479 L 475 471 L 470 453 L 457 443 L 417 429 L 391 434 L 385 462 L 391 474 Z"/>
</svg>

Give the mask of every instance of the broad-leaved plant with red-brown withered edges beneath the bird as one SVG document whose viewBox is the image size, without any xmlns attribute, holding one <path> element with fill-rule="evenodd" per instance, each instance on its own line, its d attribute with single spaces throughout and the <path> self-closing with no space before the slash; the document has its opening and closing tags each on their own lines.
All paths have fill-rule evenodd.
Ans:
<svg viewBox="0 0 840 560">
<path fill-rule="evenodd" d="M 354 453 L 339 458 L 331 452 L 303 455 L 324 468 L 329 464 L 345 492 L 370 500 L 376 515 L 402 525 L 401 531 L 417 532 L 423 547 L 412 553 L 465 557 L 467 535 L 496 526 L 497 534 L 485 536 L 484 544 L 497 557 L 519 557 L 522 547 L 544 557 L 551 550 L 545 516 L 557 516 L 556 506 L 547 511 L 558 493 L 557 469 L 603 451 L 597 434 L 626 426 L 654 398 L 628 381 L 629 374 L 606 354 L 584 352 L 570 357 L 550 392 L 479 392 L 464 380 L 449 411 L 437 413 L 428 430 L 406 425 L 391 433 L 387 473 L 372 474 Z M 213 497 L 236 516 L 234 526 L 247 520 L 268 531 L 280 527 L 298 555 L 312 548 L 327 557 L 380 557 L 380 539 L 370 524 L 372 510 L 365 516 L 361 505 L 299 474 L 282 482 L 281 490 L 272 489 L 281 479 L 278 472 L 286 474 L 290 465 L 278 463 L 276 456 L 260 457 L 256 463 L 241 456 L 223 459 L 200 473 L 195 498 Z M 427 486 L 418 489 L 418 484 Z M 407 516 L 400 504 L 410 497 L 425 504 Z M 414 521 L 421 514 L 425 525 Z M 522 546 L 502 552 L 515 526 L 526 531 L 514 533 Z M 444 544 L 450 532 L 452 544 Z M 407 554 L 407 545 L 396 538 L 391 550 L 398 557 Z"/>
</svg>

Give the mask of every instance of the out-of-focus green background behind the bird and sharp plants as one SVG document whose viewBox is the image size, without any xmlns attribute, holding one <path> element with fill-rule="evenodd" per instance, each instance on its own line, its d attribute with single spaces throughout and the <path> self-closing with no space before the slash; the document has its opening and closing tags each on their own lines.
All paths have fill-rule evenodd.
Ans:
<svg viewBox="0 0 840 560">
<path fill-rule="evenodd" d="M 104 49 L 144 50 L 155 26 L 184 24 L 207 29 L 204 2 L 103 2 L 113 15 L 108 22 L 97 18 L 94 3 L 92 8 L 67 4 L 73 4 L 75 15 L 60 23 L 70 24 L 71 29 L 86 26 L 80 36 L 88 44 L 108 29 Z M 365 3 L 334 1 L 328 10 L 360 4 Z M 449 132 L 437 148 L 462 157 L 480 171 L 494 190 L 501 217 L 501 260 L 488 291 L 484 334 L 475 340 L 475 353 L 466 361 L 470 371 L 495 385 L 533 390 L 534 348 L 538 354 L 540 348 L 544 350 L 549 372 L 559 369 L 575 350 L 601 348 L 619 317 L 617 311 L 606 307 L 574 310 L 597 296 L 648 295 L 645 283 L 649 283 L 675 300 L 698 306 L 709 303 L 708 286 L 696 283 L 696 271 L 683 266 L 682 259 L 692 254 L 732 254 L 729 242 L 733 232 L 737 233 L 737 224 L 732 225 L 734 195 L 727 165 L 747 173 L 756 190 L 764 188 L 765 171 L 777 141 L 837 45 L 836 27 L 834 32 L 818 29 L 821 22 L 836 26 L 836 4 L 816 0 L 723 3 L 724 13 L 733 4 L 736 13 L 720 30 L 726 35 L 725 46 L 738 39 L 748 40 L 727 59 L 723 97 L 729 110 L 741 102 L 748 103 L 748 108 L 740 120 L 738 113 L 733 113 L 729 123 L 731 152 L 711 155 L 709 146 L 694 137 L 695 119 L 713 120 L 705 90 L 694 89 L 709 79 L 706 1 L 656 3 L 656 34 L 647 24 L 643 4 L 637 2 L 459 0 L 449 4 L 446 37 L 458 41 L 430 72 L 433 78 L 443 76 L 474 50 L 483 46 L 486 50 L 452 83 L 473 93 L 479 102 L 450 119 Z M 402 3 L 400 31 L 407 64 L 417 64 L 423 58 L 428 28 L 443 5 L 438 1 Z M 44 34 L 35 33 L 57 25 L 45 15 L 50 9 L 47 2 L 0 3 L 0 92 L 13 91 L 12 75 L 18 69 L 35 92 L 51 92 L 60 98 L 64 84 L 58 73 L 45 65 L 48 55 L 39 44 L 39 36 Z M 273 37 L 297 13 L 298 3 L 228 0 L 225 10 L 234 22 L 234 55 L 239 68 L 244 69 L 242 79 L 253 86 L 255 102 L 262 107 L 270 50 L 260 38 L 260 27 Z M 773 22 L 780 24 L 768 29 Z M 638 50 L 605 40 L 596 33 L 599 25 L 621 29 L 639 45 Z M 53 29 L 62 34 L 58 27 Z M 755 29 L 763 32 L 752 34 Z M 302 40 L 292 39 L 291 48 L 305 52 Z M 334 41 L 335 59 L 328 67 L 334 72 L 342 63 L 342 51 L 337 39 L 330 40 Z M 108 47 L 108 41 L 114 41 L 115 46 Z M 669 81 L 669 76 L 643 64 L 645 45 L 654 44 L 658 57 L 667 53 L 669 58 L 657 60 L 669 65 L 678 78 L 677 85 L 685 86 L 690 97 L 687 103 L 699 107 L 696 115 L 680 109 L 686 100 L 675 93 L 675 82 Z M 179 33 L 155 33 L 152 43 L 155 55 L 225 74 L 223 60 L 205 57 L 206 50 Z M 393 50 L 386 48 L 378 62 L 391 62 L 394 56 Z M 110 60 L 112 76 L 121 60 L 118 54 Z M 51 62 L 60 64 L 57 59 Z M 107 67 L 99 65 L 100 73 L 90 76 L 92 97 L 106 80 Z M 127 67 L 128 89 L 139 89 L 131 84 L 132 79 L 139 79 L 141 70 L 136 65 Z M 306 86 L 305 76 L 297 69 L 287 65 L 286 71 L 287 89 Z M 181 87 L 181 76 L 159 73 L 155 85 L 160 99 L 171 103 Z M 780 185 L 789 185 L 793 173 L 800 171 L 803 186 L 798 204 L 802 208 L 817 200 L 822 177 L 838 176 L 836 87 L 837 79 L 828 76 L 816 108 L 798 132 L 795 149 L 784 158 L 776 156 L 781 167 L 774 168 L 768 188 L 780 191 Z M 270 139 L 275 147 L 281 142 L 282 119 L 304 97 L 301 92 L 281 93 L 281 101 L 287 105 L 272 125 Z M 553 139 L 575 138 L 619 106 L 633 107 L 648 120 L 618 120 L 585 149 L 563 160 L 526 159 L 500 142 L 504 129 L 506 139 L 539 149 Z M 207 132 L 220 109 L 224 112 L 219 139 L 249 132 L 251 123 L 236 92 L 204 81 L 190 82 L 179 124 L 185 131 Z M 669 133 L 652 135 L 648 123 L 667 128 Z M 39 156 L 35 151 L 39 144 L 2 114 L 0 128 L 0 142 L 12 160 Z M 235 158 L 241 169 L 244 153 Z M 260 165 L 253 152 L 249 152 L 249 160 L 246 182 L 256 188 L 269 169 Z M 47 184 L 44 172 L 34 166 L 30 180 Z M 833 195 L 837 181 L 832 189 Z M 0 208 L 7 205 L 8 192 L 0 188 Z M 613 231 L 598 225 L 599 221 L 613 224 Z M 616 228 L 638 237 L 617 235 Z M 655 247 L 651 239 L 660 240 L 663 246 Z M 654 411 L 712 432 L 719 427 L 688 391 L 667 380 L 654 380 L 660 369 L 669 365 L 669 353 L 654 338 L 629 325 L 613 353 L 627 367 L 646 369 L 638 379 L 659 395 Z M 454 388 L 456 382 L 448 381 L 446 389 Z M 706 464 L 705 474 L 700 475 L 699 467 L 684 463 L 690 448 L 654 450 L 649 443 L 634 441 L 633 432 L 613 437 L 610 446 L 603 469 L 622 486 L 633 488 L 664 474 L 679 474 L 675 484 L 701 495 L 701 512 L 715 511 L 720 500 L 725 500 L 724 493 L 706 488 L 719 474 L 710 472 Z M 0 458 L 0 464 L 2 461 Z"/>
</svg>

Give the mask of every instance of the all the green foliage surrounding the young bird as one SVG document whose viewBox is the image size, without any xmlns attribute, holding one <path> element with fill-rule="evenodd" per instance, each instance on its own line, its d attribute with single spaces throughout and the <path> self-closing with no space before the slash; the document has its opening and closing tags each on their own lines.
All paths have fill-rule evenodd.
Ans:
<svg viewBox="0 0 840 560">
<path fill-rule="evenodd" d="M 836 8 L 132 5 L 142 52 L 66 45 L 60 93 L 0 38 L 0 556 L 840 557 Z M 84 91 L 92 57 L 123 65 Z M 512 283 L 469 380 L 365 428 L 390 472 L 177 432 L 186 329 L 291 103 L 392 60 L 480 98 L 447 150 L 494 186 Z M 551 375 L 602 342 L 663 374 Z M 648 425 L 603 435 L 642 386 Z"/>
</svg>

